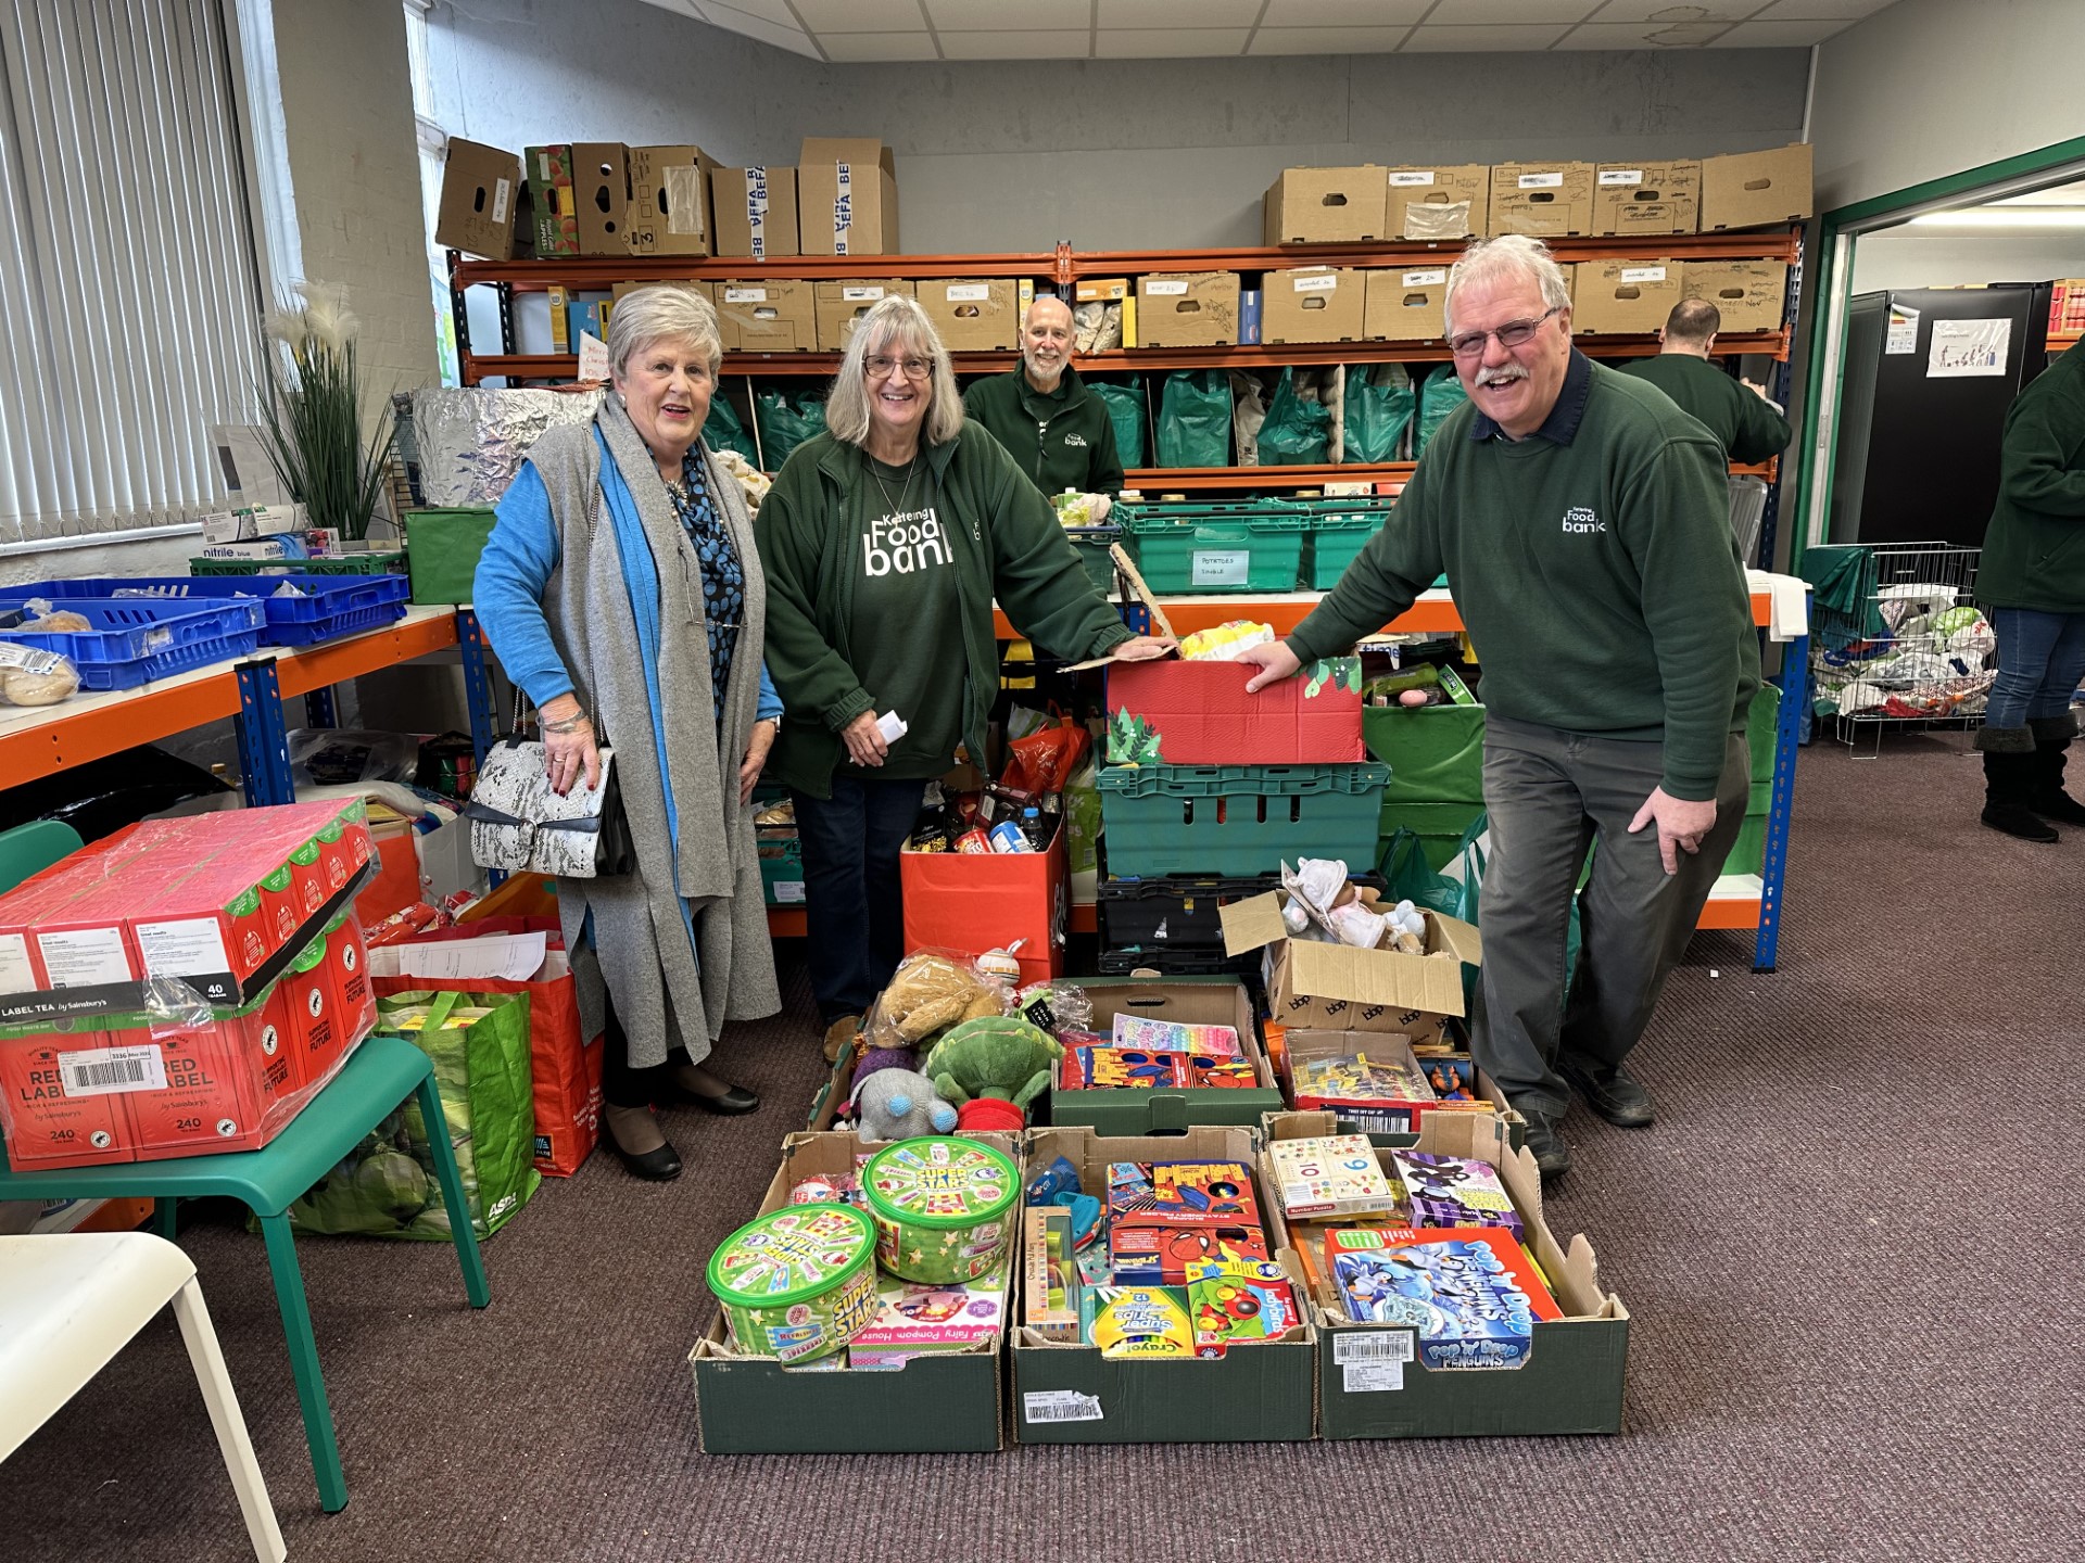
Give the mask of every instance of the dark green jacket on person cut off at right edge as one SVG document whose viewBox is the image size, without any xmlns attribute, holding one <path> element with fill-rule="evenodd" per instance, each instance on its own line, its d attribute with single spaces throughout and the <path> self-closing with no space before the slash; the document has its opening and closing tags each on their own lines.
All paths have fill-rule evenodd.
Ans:
<svg viewBox="0 0 2085 1563">
<path fill-rule="evenodd" d="M 2085 348 L 2035 375 L 2006 413 L 1977 598 L 2085 613 Z"/>
</svg>

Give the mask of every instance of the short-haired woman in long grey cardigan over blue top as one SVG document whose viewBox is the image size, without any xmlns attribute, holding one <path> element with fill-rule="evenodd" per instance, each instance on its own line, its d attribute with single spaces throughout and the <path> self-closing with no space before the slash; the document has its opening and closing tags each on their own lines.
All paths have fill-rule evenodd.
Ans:
<svg viewBox="0 0 2085 1563">
<path fill-rule="evenodd" d="M 609 321 L 613 392 L 553 427 L 500 498 L 475 609 L 542 717 L 550 786 L 613 744 L 636 871 L 559 879 L 607 1132 L 638 1177 L 680 1175 L 651 1107 L 751 1113 L 707 1067 L 726 1021 L 774 1015 L 753 786 L 782 702 L 761 667 L 765 586 L 738 483 L 703 446 L 723 356 L 709 302 L 644 288 Z"/>
</svg>

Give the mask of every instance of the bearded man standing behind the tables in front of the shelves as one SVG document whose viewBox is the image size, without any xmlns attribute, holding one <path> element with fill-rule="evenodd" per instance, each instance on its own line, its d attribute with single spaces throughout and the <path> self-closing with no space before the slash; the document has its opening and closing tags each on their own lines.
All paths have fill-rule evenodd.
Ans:
<svg viewBox="0 0 2085 1563">
<path fill-rule="evenodd" d="M 990 429 L 1045 494 L 1120 494 L 1115 423 L 1072 367 L 1074 344 L 1072 306 L 1038 298 L 1022 327 L 1022 367 L 963 392 L 963 413 Z"/>
</svg>

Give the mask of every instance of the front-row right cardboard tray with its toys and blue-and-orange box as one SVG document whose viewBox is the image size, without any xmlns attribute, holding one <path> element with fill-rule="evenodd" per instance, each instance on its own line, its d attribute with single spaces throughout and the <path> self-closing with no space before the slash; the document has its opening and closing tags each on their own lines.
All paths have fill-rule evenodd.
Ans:
<svg viewBox="0 0 2085 1563">
<path fill-rule="evenodd" d="M 1330 1113 L 1284 1113 L 1261 1138 L 1261 1188 L 1307 1275 L 1322 1436 L 1620 1432 L 1628 1309 L 1585 1236 L 1549 1232 L 1505 1123 L 1428 1115 L 1412 1150 L 1332 1136 Z M 1291 1194 L 1347 1209 L 1286 1219 Z"/>
</svg>

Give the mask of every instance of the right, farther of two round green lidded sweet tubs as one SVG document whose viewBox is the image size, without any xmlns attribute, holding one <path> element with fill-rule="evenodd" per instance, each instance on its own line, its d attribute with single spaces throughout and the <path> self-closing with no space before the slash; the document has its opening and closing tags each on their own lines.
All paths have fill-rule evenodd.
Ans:
<svg viewBox="0 0 2085 1563">
<path fill-rule="evenodd" d="M 869 1157 L 861 1188 L 884 1269 L 907 1282 L 972 1282 L 1007 1252 L 1022 1173 L 988 1144 L 926 1136 Z"/>
</svg>

